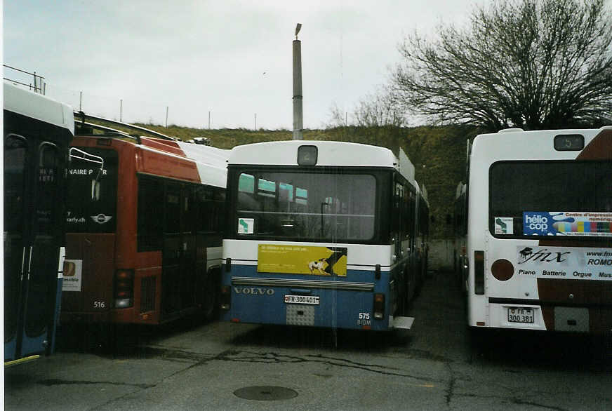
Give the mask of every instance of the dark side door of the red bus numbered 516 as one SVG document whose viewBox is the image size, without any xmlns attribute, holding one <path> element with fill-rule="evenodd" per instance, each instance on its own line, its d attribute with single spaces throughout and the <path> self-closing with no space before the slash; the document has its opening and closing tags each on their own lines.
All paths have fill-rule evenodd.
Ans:
<svg viewBox="0 0 612 411">
<path fill-rule="evenodd" d="M 164 246 L 161 254 L 161 314 L 164 320 L 194 306 L 196 292 L 196 236 L 192 224 L 192 190 L 166 182 Z"/>
</svg>

